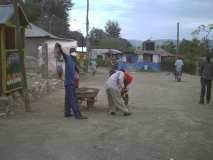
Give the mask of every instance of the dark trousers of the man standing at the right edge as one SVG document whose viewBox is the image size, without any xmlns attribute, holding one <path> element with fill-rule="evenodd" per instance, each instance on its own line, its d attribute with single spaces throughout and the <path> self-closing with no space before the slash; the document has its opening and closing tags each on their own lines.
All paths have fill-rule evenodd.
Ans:
<svg viewBox="0 0 213 160">
<path fill-rule="evenodd" d="M 204 102 L 204 98 L 205 98 L 205 95 L 206 95 L 206 101 L 210 102 L 210 99 L 211 99 L 211 89 L 212 89 L 212 80 L 201 78 L 200 82 L 201 82 L 200 101 Z"/>
</svg>

